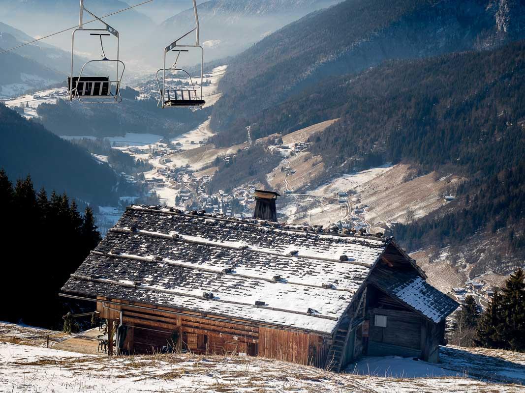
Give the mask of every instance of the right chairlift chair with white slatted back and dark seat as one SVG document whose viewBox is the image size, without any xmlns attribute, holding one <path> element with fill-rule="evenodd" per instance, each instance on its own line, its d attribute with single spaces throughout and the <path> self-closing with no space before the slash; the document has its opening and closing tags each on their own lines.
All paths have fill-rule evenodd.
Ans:
<svg viewBox="0 0 525 393">
<path fill-rule="evenodd" d="M 164 67 L 159 69 L 156 73 L 157 85 L 159 86 L 160 99 L 158 106 L 160 108 L 174 108 L 174 107 L 183 107 L 183 108 L 198 108 L 203 107 L 206 103 L 202 99 L 202 84 L 204 79 L 204 49 L 199 45 L 199 21 L 197 13 L 197 3 L 196 0 L 193 0 L 193 12 L 195 14 L 195 27 L 188 31 L 183 36 L 177 38 L 170 45 L 164 48 L 163 57 L 164 57 Z M 184 37 L 192 34 L 195 31 L 195 45 L 178 45 L 178 41 Z M 181 56 L 181 53 L 189 52 L 190 48 L 198 48 L 201 50 L 201 88 L 196 89 L 193 79 L 186 70 L 177 67 L 177 61 Z M 169 52 L 176 52 L 175 62 L 170 68 L 166 68 L 166 56 Z M 159 80 L 159 73 L 162 71 L 162 87 Z M 191 89 L 169 89 L 166 87 L 166 71 L 168 72 L 182 72 L 190 78 Z M 200 90 L 200 91 L 199 91 Z"/>
</svg>

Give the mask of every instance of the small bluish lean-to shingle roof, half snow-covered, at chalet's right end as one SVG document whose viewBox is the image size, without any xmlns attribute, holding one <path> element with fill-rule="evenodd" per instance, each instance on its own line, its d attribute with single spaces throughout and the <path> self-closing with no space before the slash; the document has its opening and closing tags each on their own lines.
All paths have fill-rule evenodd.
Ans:
<svg viewBox="0 0 525 393">
<path fill-rule="evenodd" d="M 435 323 L 458 308 L 458 303 L 440 292 L 413 270 L 374 269 L 369 281 L 392 297 Z"/>
</svg>

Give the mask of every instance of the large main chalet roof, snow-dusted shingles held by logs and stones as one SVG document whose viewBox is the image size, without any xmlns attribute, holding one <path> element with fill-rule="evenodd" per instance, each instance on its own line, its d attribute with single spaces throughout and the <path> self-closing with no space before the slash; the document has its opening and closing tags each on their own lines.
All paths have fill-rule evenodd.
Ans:
<svg viewBox="0 0 525 393">
<path fill-rule="evenodd" d="M 62 290 L 332 333 L 387 244 L 133 206 Z"/>
</svg>

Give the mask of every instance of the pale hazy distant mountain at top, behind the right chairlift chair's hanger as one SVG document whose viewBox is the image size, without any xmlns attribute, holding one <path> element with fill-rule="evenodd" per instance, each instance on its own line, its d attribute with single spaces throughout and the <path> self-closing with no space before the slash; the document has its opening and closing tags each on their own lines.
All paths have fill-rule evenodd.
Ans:
<svg viewBox="0 0 525 393">
<path fill-rule="evenodd" d="M 212 0 L 198 5 L 200 38 L 205 48 L 205 60 L 222 59 L 240 53 L 255 42 L 293 20 L 338 0 Z M 191 2 L 188 2 L 191 4 Z M 153 63 L 161 60 L 162 48 L 195 26 L 193 7 L 163 21 L 145 42 L 150 46 Z M 193 42 L 192 38 L 185 42 Z M 142 45 L 141 47 L 147 47 Z M 139 48 L 138 48 L 139 49 Z M 182 61 L 184 61 L 182 59 Z M 189 64 L 196 61 L 187 60 Z"/>
</svg>

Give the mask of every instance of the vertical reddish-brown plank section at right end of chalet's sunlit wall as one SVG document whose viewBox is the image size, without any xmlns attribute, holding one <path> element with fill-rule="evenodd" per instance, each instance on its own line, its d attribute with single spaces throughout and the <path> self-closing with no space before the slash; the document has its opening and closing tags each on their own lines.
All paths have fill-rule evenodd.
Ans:
<svg viewBox="0 0 525 393">
<path fill-rule="evenodd" d="M 327 345 L 318 334 L 259 328 L 259 356 L 324 367 Z"/>
</svg>

